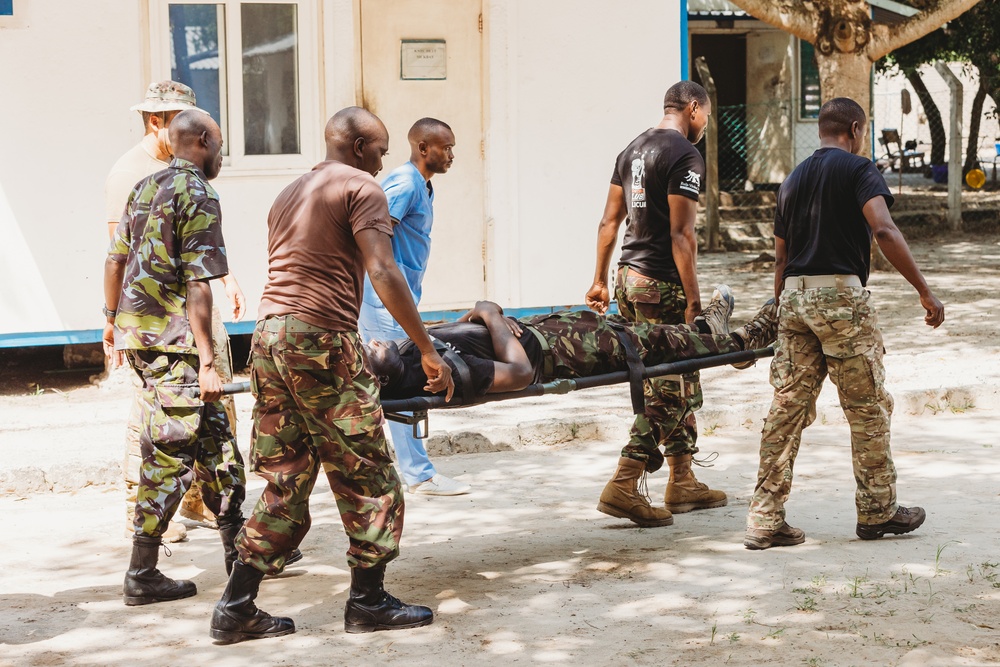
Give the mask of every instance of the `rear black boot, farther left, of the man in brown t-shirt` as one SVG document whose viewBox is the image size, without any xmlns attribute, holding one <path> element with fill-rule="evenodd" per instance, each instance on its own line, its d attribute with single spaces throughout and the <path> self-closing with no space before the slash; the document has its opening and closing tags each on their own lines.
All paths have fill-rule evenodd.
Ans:
<svg viewBox="0 0 1000 667">
<path fill-rule="evenodd" d="M 290 618 L 271 616 L 253 603 L 264 573 L 236 561 L 229 584 L 212 614 L 212 639 L 222 644 L 235 644 L 247 639 L 281 637 L 295 632 Z"/>
</svg>

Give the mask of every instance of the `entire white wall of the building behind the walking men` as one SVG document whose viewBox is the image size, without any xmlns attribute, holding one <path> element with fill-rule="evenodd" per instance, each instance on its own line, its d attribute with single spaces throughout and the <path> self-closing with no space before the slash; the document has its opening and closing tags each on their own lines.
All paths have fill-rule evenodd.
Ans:
<svg viewBox="0 0 1000 667">
<path fill-rule="evenodd" d="M 0 336 L 103 323 L 105 176 L 142 136 L 129 107 L 169 78 L 151 70 L 148 4 L 18 0 L 0 17 Z M 310 117 L 358 101 L 356 12 L 317 0 Z M 483 0 L 483 14 L 486 296 L 581 303 L 614 159 L 658 122 L 680 72 L 678 7 Z M 309 163 L 323 153 L 303 146 Z M 267 211 L 302 171 L 224 168 L 215 182 L 248 320 L 266 279 Z M 447 238 L 434 243 L 447 252 Z"/>
</svg>

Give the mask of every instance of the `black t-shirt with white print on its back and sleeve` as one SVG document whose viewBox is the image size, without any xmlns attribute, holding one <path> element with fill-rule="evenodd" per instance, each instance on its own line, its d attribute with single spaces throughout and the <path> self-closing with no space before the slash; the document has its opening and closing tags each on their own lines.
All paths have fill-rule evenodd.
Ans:
<svg viewBox="0 0 1000 667">
<path fill-rule="evenodd" d="M 670 243 L 667 195 L 698 201 L 705 160 L 680 132 L 652 128 L 623 150 L 615 161 L 612 185 L 625 191 L 628 221 L 619 266 L 680 283 Z"/>
</svg>

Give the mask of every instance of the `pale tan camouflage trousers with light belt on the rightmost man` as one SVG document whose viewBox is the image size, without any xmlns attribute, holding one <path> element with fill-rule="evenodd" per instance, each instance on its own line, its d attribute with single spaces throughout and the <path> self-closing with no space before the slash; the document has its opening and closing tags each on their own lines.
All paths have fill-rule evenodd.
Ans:
<svg viewBox="0 0 1000 667">
<path fill-rule="evenodd" d="M 785 520 L 802 429 L 816 418 L 816 397 L 829 373 L 851 427 L 858 522 L 896 512 L 896 468 L 889 452 L 892 396 L 885 390 L 882 334 L 861 287 L 786 289 L 778 310 L 771 362 L 774 399 L 760 442 L 749 528 L 774 530 Z"/>
</svg>

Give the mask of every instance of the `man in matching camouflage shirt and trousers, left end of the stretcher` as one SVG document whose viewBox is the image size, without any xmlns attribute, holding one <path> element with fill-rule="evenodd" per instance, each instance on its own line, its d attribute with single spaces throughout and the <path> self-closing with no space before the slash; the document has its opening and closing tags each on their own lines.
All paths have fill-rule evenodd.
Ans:
<svg viewBox="0 0 1000 667">
<path fill-rule="evenodd" d="M 193 479 L 218 518 L 227 570 L 243 524 L 243 462 L 219 401 L 212 348 L 209 281 L 228 264 L 219 198 L 207 181 L 222 166 L 222 133 L 192 109 L 174 118 L 170 141 L 174 160 L 135 186 L 105 262 L 105 352 L 124 351 L 145 406 L 127 605 L 197 592 L 156 567 L 163 532 Z"/>
</svg>

